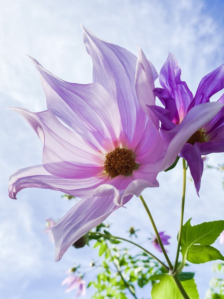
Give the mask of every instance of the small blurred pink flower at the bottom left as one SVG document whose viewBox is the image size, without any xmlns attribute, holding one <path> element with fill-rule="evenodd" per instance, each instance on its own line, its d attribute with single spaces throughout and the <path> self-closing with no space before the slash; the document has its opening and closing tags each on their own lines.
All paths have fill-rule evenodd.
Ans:
<svg viewBox="0 0 224 299">
<path fill-rule="evenodd" d="M 68 287 L 65 290 L 65 292 L 70 292 L 74 289 L 77 289 L 76 297 L 81 295 L 82 297 L 86 294 L 86 282 L 82 278 L 76 276 L 76 275 L 70 275 L 66 277 L 62 281 L 62 286 L 64 286 L 67 283 Z"/>
</svg>

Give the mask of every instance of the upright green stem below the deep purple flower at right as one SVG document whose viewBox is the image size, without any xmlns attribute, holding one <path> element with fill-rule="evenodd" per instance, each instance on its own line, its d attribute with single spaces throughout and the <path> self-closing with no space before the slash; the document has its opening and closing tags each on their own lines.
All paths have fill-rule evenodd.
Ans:
<svg viewBox="0 0 224 299">
<path fill-rule="evenodd" d="M 183 162 L 183 192 L 182 192 L 182 203 L 181 203 L 180 228 L 179 228 L 178 243 L 177 243 L 177 254 L 174 263 L 173 273 L 175 273 L 177 269 L 177 263 L 178 263 L 179 252 L 180 252 L 180 242 L 182 236 L 182 228 L 183 228 L 183 219 L 184 219 L 184 203 L 185 203 L 185 193 L 186 193 L 186 163 L 184 158 L 182 159 L 182 162 Z"/>
</svg>

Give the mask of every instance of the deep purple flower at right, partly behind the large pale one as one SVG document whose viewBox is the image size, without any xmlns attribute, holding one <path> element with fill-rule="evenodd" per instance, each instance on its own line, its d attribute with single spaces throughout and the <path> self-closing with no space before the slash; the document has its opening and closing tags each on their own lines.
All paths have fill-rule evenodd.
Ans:
<svg viewBox="0 0 224 299">
<path fill-rule="evenodd" d="M 139 65 L 142 63 L 145 67 L 145 56 L 143 53 L 140 56 Z M 161 134 L 170 141 L 162 169 L 174 162 L 173 147 L 179 147 L 178 155 L 188 162 L 198 194 L 203 172 L 201 155 L 224 151 L 224 108 L 221 109 L 224 95 L 217 102 L 208 103 L 210 97 L 224 87 L 224 65 L 202 78 L 195 97 L 187 84 L 180 80 L 180 74 L 177 59 L 169 54 L 159 74 L 163 89 L 154 89 L 154 95 L 165 108 L 155 106 L 147 97 L 142 106 L 145 111 L 148 109 L 149 115 L 154 112 L 159 118 Z M 149 92 L 152 93 L 152 88 Z"/>
</svg>

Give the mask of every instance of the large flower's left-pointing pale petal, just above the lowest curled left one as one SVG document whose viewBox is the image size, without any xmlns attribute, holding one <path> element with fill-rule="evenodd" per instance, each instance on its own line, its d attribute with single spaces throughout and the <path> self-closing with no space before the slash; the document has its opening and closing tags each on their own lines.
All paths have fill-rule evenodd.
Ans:
<svg viewBox="0 0 224 299">
<path fill-rule="evenodd" d="M 49 173 L 62 178 L 85 179 L 104 170 L 105 155 L 63 126 L 50 109 L 37 113 L 23 108 L 13 110 L 27 120 L 44 142 L 43 165 Z"/>
</svg>

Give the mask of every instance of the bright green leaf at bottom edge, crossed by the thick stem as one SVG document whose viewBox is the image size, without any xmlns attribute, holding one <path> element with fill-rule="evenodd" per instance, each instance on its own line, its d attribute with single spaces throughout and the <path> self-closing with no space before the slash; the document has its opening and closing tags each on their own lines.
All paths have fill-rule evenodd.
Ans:
<svg viewBox="0 0 224 299">
<path fill-rule="evenodd" d="M 185 280 L 181 282 L 190 299 L 199 299 L 197 286 L 194 279 Z M 164 275 L 159 283 L 154 283 L 151 292 L 152 299 L 183 299 L 173 277 L 171 275 Z"/>
</svg>

